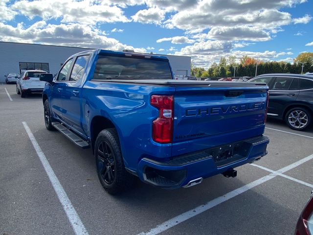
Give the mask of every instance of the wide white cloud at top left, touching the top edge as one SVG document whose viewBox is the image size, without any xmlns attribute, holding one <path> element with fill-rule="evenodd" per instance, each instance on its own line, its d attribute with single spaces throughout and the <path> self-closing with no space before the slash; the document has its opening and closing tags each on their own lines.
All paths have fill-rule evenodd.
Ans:
<svg viewBox="0 0 313 235">
<path fill-rule="evenodd" d="M 38 16 L 44 20 L 61 19 L 62 23 L 113 23 L 129 22 L 124 12 L 117 6 L 105 2 L 95 3 L 90 0 L 22 0 L 15 2 L 12 9 L 33 19 Z"/>
</svg>

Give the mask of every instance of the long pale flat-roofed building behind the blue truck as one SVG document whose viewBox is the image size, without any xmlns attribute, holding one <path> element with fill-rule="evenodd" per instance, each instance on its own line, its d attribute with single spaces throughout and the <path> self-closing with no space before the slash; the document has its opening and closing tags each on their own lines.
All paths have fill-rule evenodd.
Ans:
<svg viewBox="0 0 313 235">
<path fill-rule="evenodd" d="M 21 73 L 22 70 L 38 69 L 55 74 L 69 56 L 88 49 L 0 42 L 0 82 L 4 82 L 7 73 Z M 191 57 L 163 56 L 168 57 L 175 75 L 190 76 Z"/>
</svg>

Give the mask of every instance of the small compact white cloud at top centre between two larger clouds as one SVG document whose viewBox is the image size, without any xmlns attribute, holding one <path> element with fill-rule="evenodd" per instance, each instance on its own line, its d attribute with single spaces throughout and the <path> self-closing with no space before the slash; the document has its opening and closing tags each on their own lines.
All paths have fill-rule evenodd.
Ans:
<svg viewBox="0 0 313 235">
<path fill-rule="evenodd" d="M 132 19 L 134 22 L 140 22 L 142 24 L 161 24 L 164 19 L 165 12 L 158 8 L 149 8 L 138 11 Z"/>
</svg>

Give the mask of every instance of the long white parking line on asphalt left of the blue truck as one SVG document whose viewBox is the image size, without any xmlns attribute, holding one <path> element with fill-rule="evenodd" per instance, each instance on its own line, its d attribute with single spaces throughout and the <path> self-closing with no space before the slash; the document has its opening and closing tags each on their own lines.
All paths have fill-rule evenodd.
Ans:
<svg viewBox="0 0 313 235">
<path fill-rule="evenodd" d="M 31 130 L 29 129 L 27 123 L 25 121 L 22 122 L 23 126 L 27 132 L 27 135 L 30 139 L 30 141 L 32 142 L 36 153 L 41 161 L 41 163 L 43 164 L 44 168 L 45 168 L 45 172 L 47 173 L 49 180 L 63 206 L 64 211 L 67 214 L 67 218 L 75 232 L 76 235 L 88 235 L 88 232 L 83 224 L 83 222 L 81 221 L 81 219 L 79 218 L 77 212 L 75 211 L 73 205 L 71 204 L 69 198 L 67 197 L 67 193 L 64 190 L 64 188 L 62 187 L 60 181 L 58 180 L 57 176 L 55 175 L 54 171 L 52 170 L 48 160 L 45 157 L 44 152 L 41 150 L 38 142 L 36 141 L 33 133 L 31 132 Z"/>
</svg>

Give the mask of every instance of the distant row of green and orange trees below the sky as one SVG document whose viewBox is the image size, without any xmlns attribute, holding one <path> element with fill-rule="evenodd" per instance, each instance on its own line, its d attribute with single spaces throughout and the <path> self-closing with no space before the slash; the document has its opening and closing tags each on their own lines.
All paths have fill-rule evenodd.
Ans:
<svg viewBox="0 0 313 235">
<path fill-rule="evenodd" d="M 233 77 L 235 76 L 255 76 L 265 73 L 303 73 L 313 72 L 313 52 L 304 52 L 293 59 L 293 63 L 284 61 L 264 62 L 251 58 L 247 55 L 236 62 L 235 56 L 222 57 L 219 64 L 213 63 L 208 70 L 197 68 L 191 65 L 191 74 L 196 77 Z M 257 70 L 256 70 L 257 69 Z"/>
</svg>

